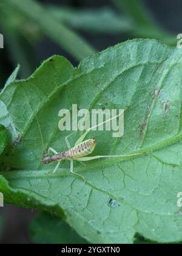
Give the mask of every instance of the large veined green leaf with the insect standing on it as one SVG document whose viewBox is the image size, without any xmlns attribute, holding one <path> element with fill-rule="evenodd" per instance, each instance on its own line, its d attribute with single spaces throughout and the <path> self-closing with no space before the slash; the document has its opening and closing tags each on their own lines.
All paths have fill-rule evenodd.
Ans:
<svg viewBox="0 0 182 256">
<path fill-rule="evenodd" d="M 92 243 L 133 243 L 135 233 L 160 243 L 182 240 L 181 68 L 181 49 L 133 40 L 78 68 L 52 57 L 29 79 L 6 87 L 1 100 L 16 136 L 4 157 L 15 171 L 1 172 L 5 202 L 63 215 Z M 70 174 L 68 162 L 49 172 L 55 163 L 44 166 L 41 157 L 50 146 L 66 149 L 70 132 L 59 131 L 58 112 L 72 104 L 125 109 L 124 137 L 112 138 L 112 131 L 88 135 L 98 141 L 93 155 L 139 155 L 76 163 L 74 171 L 86 181 Z"/>
</svg>

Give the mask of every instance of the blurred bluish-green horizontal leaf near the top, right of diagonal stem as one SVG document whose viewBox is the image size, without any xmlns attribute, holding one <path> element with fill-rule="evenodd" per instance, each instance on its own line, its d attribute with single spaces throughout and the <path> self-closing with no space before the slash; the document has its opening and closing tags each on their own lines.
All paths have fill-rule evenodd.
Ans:
<svg viewBox="0 0 182 256">
<path fill-rule="evenodd" d="M 51 5 L 49 12 L 74 29 L 109 34 L 131 32 L 133 29 L 128 18 L 118 15 L 109 7 L 74 10 Z"/>
</svg>

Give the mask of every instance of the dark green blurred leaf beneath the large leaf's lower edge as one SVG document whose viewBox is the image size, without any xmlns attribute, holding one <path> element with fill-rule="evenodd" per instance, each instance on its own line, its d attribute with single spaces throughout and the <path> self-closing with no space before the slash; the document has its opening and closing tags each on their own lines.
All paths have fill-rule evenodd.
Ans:
<svg viewBox="0 0 182 256">
<path fill-rule="evenodd" d="M 30 237 L 36 244 L 85 244 L 66 222 L 48 213 L 39 214 L 30 224 Z"/>
</svg>

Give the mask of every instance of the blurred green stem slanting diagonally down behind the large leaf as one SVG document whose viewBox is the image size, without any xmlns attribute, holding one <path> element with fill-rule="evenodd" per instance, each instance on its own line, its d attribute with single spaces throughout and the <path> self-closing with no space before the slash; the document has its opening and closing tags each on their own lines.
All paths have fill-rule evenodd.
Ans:
<svg viewBox="0 0 182 256">
<path fill-rule="evenodd" d="M 71 29 L 57 21 L 43 5 L 33 0 L 9 0 L 3 3 L 10 9 L 29 18 L 35 22 L 45 35 L 52 38 L 64 50 L 72 54 L 77 60 L 82 60 L 95 53 L 92 46 L 89 45 L 81 36 L 77 35 Z"/>
</svg>

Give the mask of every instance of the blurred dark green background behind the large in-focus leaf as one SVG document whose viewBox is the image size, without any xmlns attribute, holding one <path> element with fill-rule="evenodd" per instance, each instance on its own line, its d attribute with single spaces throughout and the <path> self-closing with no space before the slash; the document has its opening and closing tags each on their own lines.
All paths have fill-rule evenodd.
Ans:
<svg viewBox="0 0 182 256">
<path fill-rule="evenodd" d="M 50 55 L 74 66 L 85 57 L 132 38 L 155 38 L 175 46 L 182 33 L 181 0 L 0 0 L 0 87 L 19 63 L 29 77 Z M 0 208 L 1 243 L 32 243 L 36 211 Z M 144 243 L 144 241 L 143 241 Z"/>
</svg>

